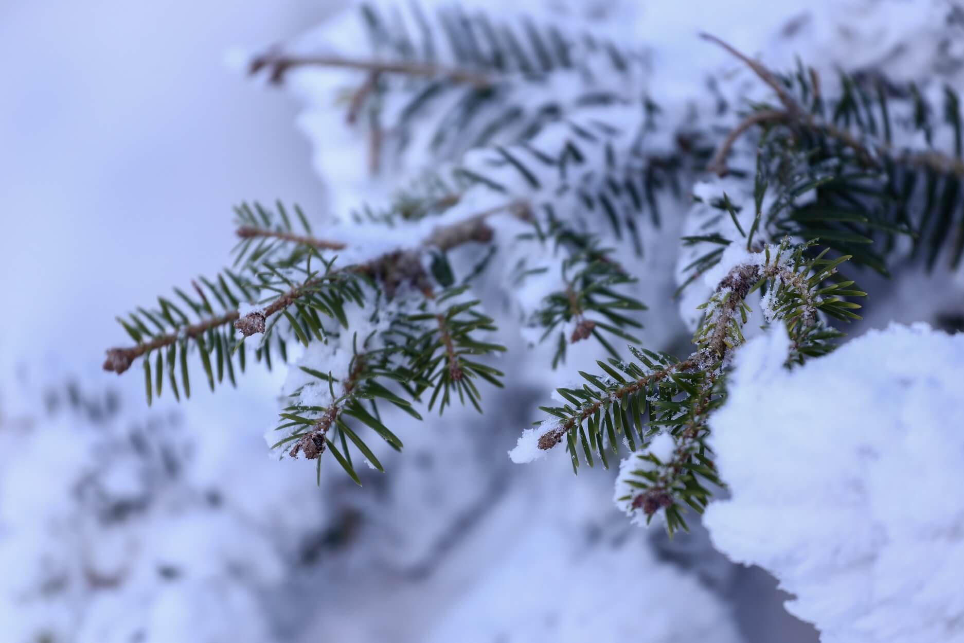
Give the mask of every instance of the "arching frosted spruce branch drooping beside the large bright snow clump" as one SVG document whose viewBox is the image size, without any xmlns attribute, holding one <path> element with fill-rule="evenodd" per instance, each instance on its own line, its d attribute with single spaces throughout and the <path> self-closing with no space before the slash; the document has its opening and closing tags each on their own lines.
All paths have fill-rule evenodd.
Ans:
<svg viewBox="0 0 964 643">
<path fill-rule="evenodd" d="M 702 512 L 711 495 L 705 483 L 723 485 L 705 439 L 710 434 L 708 418 L 725 399 L 732 353 L 744 341 L 741 327 L 751 311 L 748 297 L 757 290 L 764 292 L 764 319 L 786 326 L 794 346 L 793 362 L 826 353 L 831 348 L 827 340 L 841 335 L 824 325 L 820 312 L 840 319 L 857 316 L 851 310 L 859 305 L 841 297 L 865 293 L 845 289 L 852 281 L 825 284 L 848 257 L 825 259 L 826 251 L 807 257 L 811 245 L 813 242 L 793 246 L 785 239 L 779 246 L 766 246 L 736 263 L 700 307 L 705 314 L 693 336 L 695 350 L 685 360 L 630 345 L 637 362 L 610 358 L 608 363 L 597 362 L 602 375 L 580 371 L 587 384 L 558 389 L 568 404 L 541 407 L 553 418 L 545 420 L 548 428 L 541 435 L 536 434 L 536 446 L 547 450 L 565 439 L 576 469 L 576 449 L 581 442 L 582 455 L 590 466 L 598 457 L 607 467 L 606 451 L 618 452 L 618 434 L 623 434 L 632 451 L 638 439 L 643 448 L 631 457 L 646 466 L 621 474 L 621 484 L 631 491 L 620 501 L 630 513 L 641 511 L 647 521 L 664 510 L 671 534 L 685 529 L 682 505 Z M 649 450 L 660 433 L 674 443 L 673 453 L 665 461 Z"/>
</svg>

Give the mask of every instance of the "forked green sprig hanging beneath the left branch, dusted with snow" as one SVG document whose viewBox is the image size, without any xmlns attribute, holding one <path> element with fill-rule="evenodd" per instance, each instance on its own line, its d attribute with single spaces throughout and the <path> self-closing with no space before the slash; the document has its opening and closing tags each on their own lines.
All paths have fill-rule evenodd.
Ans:
<svg viewBox="0 0 964 643">
<path fill-rule="evenodd" d="M 288 435 L 272 448 L 294 442 L 287 454 L 294 458 L 302 453 L 309 460 L 331 452 L 339 466 L 362 484 L 353 465 L 352 445 L 375 469 L 384 470 L 365 443 L 363 428 L 371 429 L 393 449 L 402 449 L 402 442 L 384 424 L 377 403 L 388 402 L 420 420 L 413 403 L 422 401 L 423 391 L 435 388 L 428 408 L 441 397 L 441 412 L 450 402 L 450 388 L 455 388 L 460 398 L 468 398 L 481 412 L 479 390 L 472 380 L 481 378 L 500 387 L 502 373 L 469 358 L 505 349 L 477 336 L 478 332 L 495 331 L 495 326 L 491 318 L 476 310 L 478 301 L 462 300 L 465 291 L 459 287 L 429 293 L 414 310 L 417 297 L 390 309 L 384 298 L 376 297 L 368 319 L 371 332 L 356 330 L 350 346 L 345 341 L 327 346 L 335 358 L 342 351 L 351 351 L 341 379 L 309 365 L 299 366 L 309 379 L 290 393 L 292 402 L 282 410 L 276 428 L 287 430 Z M 387 326 L 381 323 L 385 319 Z M 335 388 L 340 388 L 340 393 Z M 320 466 L 319 461 L 319 471 Z"/>
</svg>

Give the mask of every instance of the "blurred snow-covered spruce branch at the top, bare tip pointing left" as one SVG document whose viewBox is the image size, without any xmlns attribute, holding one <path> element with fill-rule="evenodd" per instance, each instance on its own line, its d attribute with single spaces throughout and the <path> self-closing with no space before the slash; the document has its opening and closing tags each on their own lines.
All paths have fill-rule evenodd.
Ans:
<svg viewBox="0 0 964 643">
<path fill-rule="evenodd" d="M 418 25 L 415 34 L 407 17 Z M 529 140 L 582 105 L 635 102 L 646 68 L 641 52 L 589 34 L 579 38 L 528 20 L 494 23 L 485 13 L 458 7 L 426 14 L 417 6 L 388 13 L 363 5 L 361 19 L 371 43 L 367 57 L 275 47 L 256 56 L 250 70 L 267 70 L 276 84 L 293 67 L 358 70 L 363 78 L 348 98 L 346 120 L 359 122 L 367 112 L 362 123 L 373 171 L 389 156 L 408 161 L 404 154 L 415 140 L 426 142 L 434 161 L 452 161 L 471 148 Z M 529 104 L 533 88 L 549 86 L 557 73 L 571 76 L 579 95 L 562 103 L 545 95 L 541 104 Z M 434 131 L 416 135 L 416 124 Z"/>
</svg>

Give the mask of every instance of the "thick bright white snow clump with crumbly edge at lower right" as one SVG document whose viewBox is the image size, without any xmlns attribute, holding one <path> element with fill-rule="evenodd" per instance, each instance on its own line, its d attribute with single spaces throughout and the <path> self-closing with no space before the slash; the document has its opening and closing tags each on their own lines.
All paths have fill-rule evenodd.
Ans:
<svg viewBox="0 0 964 643">
<path fill-rule="evenodd" d="M 710 419 L 713 544 L 826 643 L 964 641 L 964 335 L 892 325 L 793 370 L 788 348 L 751 340 Z"/>
</svg>

